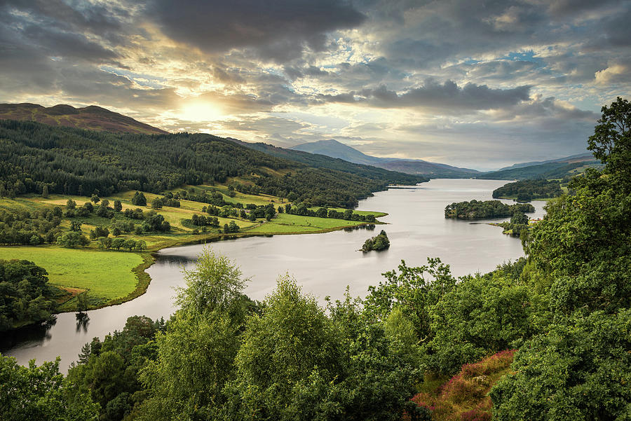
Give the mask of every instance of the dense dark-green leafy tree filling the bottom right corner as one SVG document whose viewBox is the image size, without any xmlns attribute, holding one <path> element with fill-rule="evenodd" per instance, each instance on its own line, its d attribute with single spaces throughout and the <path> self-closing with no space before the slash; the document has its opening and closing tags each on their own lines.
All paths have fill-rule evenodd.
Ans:
<svg viewBox="0 0 631 421">
<path fill-rule="evenodd" d="M 494 420 L 626 420 L 631 402 L 631 310 L 552 325 L 515 356 L 491 390 Z"/>
</svg>

